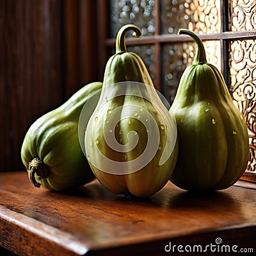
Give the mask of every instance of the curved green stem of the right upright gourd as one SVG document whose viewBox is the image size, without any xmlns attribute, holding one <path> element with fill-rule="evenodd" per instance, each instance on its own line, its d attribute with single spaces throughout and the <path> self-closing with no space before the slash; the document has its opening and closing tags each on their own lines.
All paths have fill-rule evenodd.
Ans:
<svg viewBox="0 0 256 256">
<path fill-rule="evenodd" d="M 189 35 L 195 41 L 197 50 L 196 50 L 196 55 L 193 60 L 193 63 L 194 64 L 195 63 L 207 63 L 205 49 L 204 49 L 204 45 L 203 45 L 201 39 L 194 32 L 190 31 L 189 29 L 180 29 L 178 34 L 179 35 Z"/>
</svg>

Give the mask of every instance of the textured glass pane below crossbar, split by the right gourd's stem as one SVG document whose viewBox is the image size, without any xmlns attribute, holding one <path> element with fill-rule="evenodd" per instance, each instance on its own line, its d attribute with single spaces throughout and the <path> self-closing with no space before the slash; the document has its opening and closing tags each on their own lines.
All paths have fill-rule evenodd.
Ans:
<svg viewBox="0 0 256 256">
<path fill-rule="evenodd" d="M 220 41 L 204 41 L 207 61 L 220 70 Z M 185 68 L 191 65 L 196 52 L 193 42 L 165 44 L 163 47 L 163 92 L 170 104 L 177 92 L 180 77 Z"/>
</svg>

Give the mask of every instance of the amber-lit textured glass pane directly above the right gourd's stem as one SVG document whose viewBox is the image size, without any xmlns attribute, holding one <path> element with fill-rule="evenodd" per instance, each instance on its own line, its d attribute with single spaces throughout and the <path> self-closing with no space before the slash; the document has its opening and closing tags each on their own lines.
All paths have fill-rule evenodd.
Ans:
<svg viewBox="0 0 256 256">
<path fill-rule="evenodd" d="M 162 33 L 188 28 L 195 33 L 220 32 L 220 0 L 161 1 Z"/>
</svg>

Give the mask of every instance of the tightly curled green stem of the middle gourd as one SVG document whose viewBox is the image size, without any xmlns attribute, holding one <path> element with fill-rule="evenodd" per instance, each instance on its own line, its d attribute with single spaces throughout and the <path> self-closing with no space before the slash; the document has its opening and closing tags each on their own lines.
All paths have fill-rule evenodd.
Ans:
<svg viewBox="0 0 256 256">
<path fill-rule="evenodd" d="M 127 24 L 122 26 L 119 29 L 117 36 L 116 36 L 116 53 L 118 52 L 126 52 L 126 45 L 125 45 L 125 36 L 129 30 L 133 30 L 132 36 L 140 37 L 141 36 L 141 29 L 135 25 Z"/>
</svg>

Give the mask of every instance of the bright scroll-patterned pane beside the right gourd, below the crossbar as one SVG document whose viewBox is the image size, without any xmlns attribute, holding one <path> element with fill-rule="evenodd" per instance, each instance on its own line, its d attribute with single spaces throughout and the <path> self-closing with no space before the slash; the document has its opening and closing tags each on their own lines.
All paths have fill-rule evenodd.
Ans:
<svg viewBox="0 0 256 256">
<path fill-rule="evenodd" d="M 250 161 L 247 170 L 256 172 L 256 40 L 230 43 L 230 91 L 248 126 Z"/>
</svg>

